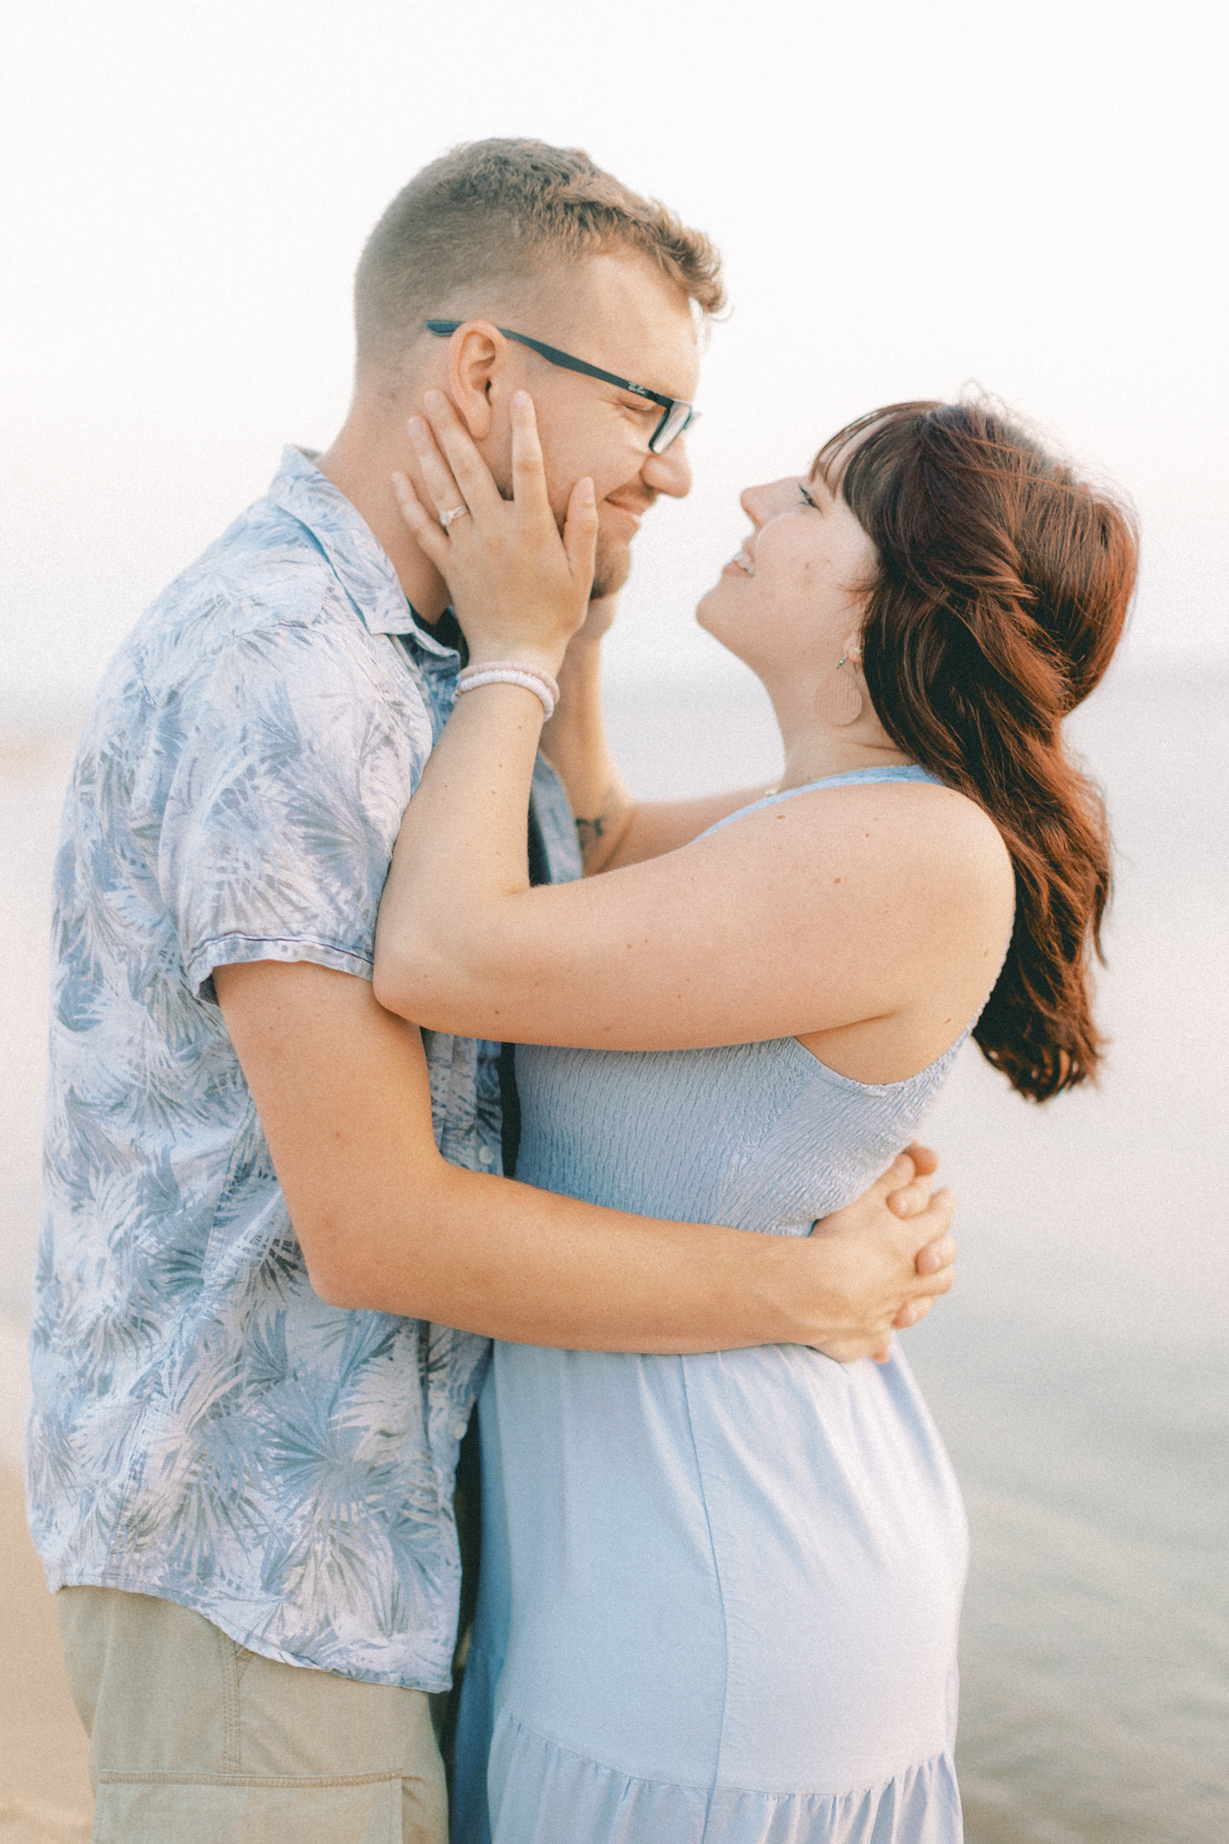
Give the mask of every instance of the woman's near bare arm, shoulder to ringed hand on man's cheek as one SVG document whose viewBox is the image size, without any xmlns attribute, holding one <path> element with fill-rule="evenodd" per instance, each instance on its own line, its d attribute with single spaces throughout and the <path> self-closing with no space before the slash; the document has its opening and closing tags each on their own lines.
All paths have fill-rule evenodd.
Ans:
<svg viewBox="0 0 1229 1844">
<path fill-rule="evenodd" d="M 437 431 L 451 474 L 420 450 L 427 485 L 446 505 L 461 491 L 474 516 L 444 533 L 407 498 L 411 529 L 450 583 L 472 653 L 553 671 L 586 599 L 571 514 L 560 544 L 549 513 L 529 400 L 514 409 L 510 503 L 446 406 Z M 665 857 L 531 891 L 525 806 L 540 732 L 542 704 L 521 686 L 457 699 L 380 909 L 376 996 L 391 1011 L 468 1036 L 610 1049 L 862 1023 L 883 1038 L 903 1020 L 890 1046 L 901 1068 L 864 1073 L 892 1081 L 938 1055 L 984 998 L 1012 876 L 995 828 L 960 795 L 927 784 L 803 793 Z"/>
</svg>

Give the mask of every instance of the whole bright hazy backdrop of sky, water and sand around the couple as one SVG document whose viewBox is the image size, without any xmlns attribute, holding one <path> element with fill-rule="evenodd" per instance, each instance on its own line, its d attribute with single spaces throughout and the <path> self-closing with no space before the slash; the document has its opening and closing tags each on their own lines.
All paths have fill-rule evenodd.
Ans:
<svg viewBox="0 0 1229 1844">
<path fill-rule="evenodd" d="M 805 465 L 849 417 L 978 382 L 1139 507 L 1126 669 L 1072 723 L 1118 843 L 1106 1082 L 1036 1110 L 964 1057 L 929 1127 L 960 1195 L 960 1283 L 908 1352 L 973 1523 L 969 1844 L 1229 1837 L 1225 17 L 1223 0 L 9 0 L 0 1564 L 20 1531 L 6 1468 L 48 891 L 83 701 L 282 444 L 330 441 L 350 277 L 389 197 L 459 140 L 580 144 L 711 230 L 733 301 L 696 489 L 647 522 L 612 642 L 641 793 L 779 773 L 763 695 L 691 609 L 746 529 L 739 487 Z M 15 1569 L 6 1634 L 24 1630 Z M 88 1803 L 66 1689 L 59 1728 L 28 1698 L 53 1645 L 18 1641 L 0 1673 L 4 1813 Z"/>
</svg>

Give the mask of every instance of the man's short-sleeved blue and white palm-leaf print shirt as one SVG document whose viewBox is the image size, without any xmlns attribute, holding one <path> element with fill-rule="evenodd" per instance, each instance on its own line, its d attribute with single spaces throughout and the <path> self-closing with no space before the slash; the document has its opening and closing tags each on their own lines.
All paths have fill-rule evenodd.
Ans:
<svg viewBox="0 0 1229 1844">
<path fill-rule="evenodd" d="M 28 1435 L 53 1590 L 160 1595 L 267 1658 L 427 1691 L 488 1344 L 313 1294 L 212 972 L 370 979 L 457 666 L 293 448 L 112 660 L 55 865 Z M 542 762 L 534 800 L 553 876 L 579 876 Z M 444 1156 L 497 1171 L 497 1046 L 424 1040 Z"/>
</svg>

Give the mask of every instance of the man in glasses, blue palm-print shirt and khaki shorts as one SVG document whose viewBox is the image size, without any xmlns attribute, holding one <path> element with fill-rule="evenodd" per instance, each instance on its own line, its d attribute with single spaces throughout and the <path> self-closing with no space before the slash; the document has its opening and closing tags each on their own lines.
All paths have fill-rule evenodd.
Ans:
<svg viewBox="0 0 1229 1844">
<path fill-rule="evenodd" d="M 98 1835 L 127 1844 L 444 1837 L 427 1693 L 488 1337 L 853 1357 L 951 1283 L 949 1204 L 884 1204 L 908 1164 L 803 1243 L 497 1176 L 499 1047 L 374 1001 L 462 649 L 392 496 L 407 415 L 448 389 L 507 474 L 529 384 L 551 491 L 597 483 L 610 597 L 689 487 L 661 402 L 695 395 L 720 282 L 584 155 L 485 142 L 394 199 L 356 301 L 345 428 L 319 465 L 287 450 L 120 649 L 57 859 L 29 1503 Z M 529 848 L 579 876 L 545 763 Z"/>
</svg>

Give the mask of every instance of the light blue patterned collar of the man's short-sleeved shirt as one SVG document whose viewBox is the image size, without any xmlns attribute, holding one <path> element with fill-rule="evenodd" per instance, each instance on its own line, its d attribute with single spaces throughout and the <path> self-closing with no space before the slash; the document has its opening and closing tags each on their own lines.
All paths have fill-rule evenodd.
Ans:
<svg viewBox="0 0 1229 1844">
<path fill-rule="evenodd" d="M 376 542 L 357 507 L 321 474 L 310 454 L 302 448 L 282 450 L 269 500 L 306 526 L 369 632 L 402 634 L 424 653 L 455 664 L 457 649 L 444 645 L 418 621 L 389 553 Z"/>
</svg>

